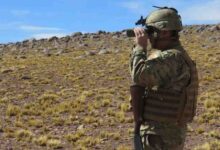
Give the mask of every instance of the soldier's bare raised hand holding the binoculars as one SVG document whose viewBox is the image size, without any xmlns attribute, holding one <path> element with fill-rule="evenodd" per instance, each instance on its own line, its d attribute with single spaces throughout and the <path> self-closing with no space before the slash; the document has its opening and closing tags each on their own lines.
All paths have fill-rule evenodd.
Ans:
<svg viewBox="0 0 220 150">
<path fill-rule="evenodd" d="M 148 36 L 145 33 L 144 28 L 134 28 L 134 33 L 135 33 L 135 42 L 139 46 L 143 47 L 144 49 L 147 48 L 147 41 L 148 41 Z"/>
</svg>

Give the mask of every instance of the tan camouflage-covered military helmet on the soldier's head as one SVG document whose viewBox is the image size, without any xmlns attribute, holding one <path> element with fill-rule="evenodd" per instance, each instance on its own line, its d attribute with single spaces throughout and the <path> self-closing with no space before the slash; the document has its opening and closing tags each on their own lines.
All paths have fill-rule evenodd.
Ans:
<svg viewBox="0 0 220 150">
<path fill-rule="evenodd" d="M 158 30 L 182 30 L 181 17 L 175 8 L 157 7 L 146 18 L 146 26 L 154 27 Z"/>
</svg>

